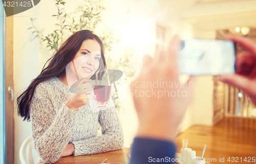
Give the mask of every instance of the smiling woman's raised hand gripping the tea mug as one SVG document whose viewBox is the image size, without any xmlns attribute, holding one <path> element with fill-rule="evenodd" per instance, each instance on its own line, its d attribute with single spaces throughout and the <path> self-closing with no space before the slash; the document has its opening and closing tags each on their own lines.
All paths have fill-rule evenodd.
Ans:
<svg viewBox="0 0 256 164">
<path fill-rule="evenodd" d="M 92 80 L 82 80 L 76 87 L 76 93 L 72 93 L 66 102 L 66 106 L 74 111 L 78 111 L 78 108 L 86 105 L 93 96 L 91 95 L 92 84 L 88 83 Z"/>
</svg>

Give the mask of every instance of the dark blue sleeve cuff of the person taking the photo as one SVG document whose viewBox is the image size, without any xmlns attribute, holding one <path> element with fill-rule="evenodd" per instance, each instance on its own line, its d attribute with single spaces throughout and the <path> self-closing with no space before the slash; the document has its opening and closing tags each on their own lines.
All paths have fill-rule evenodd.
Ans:
<svg viewBox="0 0 256 164">
<path fill-rule="evenodd" d="M 174 143 L 153 138 L 134 138 L 130 164 L 173 163 Z"/>
</svg>

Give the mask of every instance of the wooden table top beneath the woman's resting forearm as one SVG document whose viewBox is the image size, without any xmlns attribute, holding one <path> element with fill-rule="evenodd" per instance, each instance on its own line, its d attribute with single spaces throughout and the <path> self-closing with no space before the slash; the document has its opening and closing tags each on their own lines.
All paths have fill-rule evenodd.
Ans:
<svg viewBox="0 0 256 164">
<path fill-rule="evenodd" d="M 100 154 L 92 155 L 81 155 L 81 156 L 67 156 L 60 158 L 55 163 L 87 163 L 87 164 L 98 164 L 101 163 L 105 158 L 108 158 L 104 163 L 116 163 L 125 164 L 125 160 L 128 162 L 129 157 L 127 154 L 130 153 L 130 148 L 122 148 L 120 150 L 105 152 Z M 44 163 L 44 162 L 40 162 Z"/>
</svg>

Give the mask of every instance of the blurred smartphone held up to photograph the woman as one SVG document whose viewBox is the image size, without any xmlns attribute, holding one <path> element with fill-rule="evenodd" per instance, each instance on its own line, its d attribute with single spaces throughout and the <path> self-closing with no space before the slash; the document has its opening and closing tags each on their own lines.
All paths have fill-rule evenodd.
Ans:
<svg viewBox="0 0 256 164">
<path fill-rule="evenodd" d="M 234 42 L 231 40 L 182 40 L 177 60 L 181 74 L 234 74 L 236 49 Z"/>
</svg>

